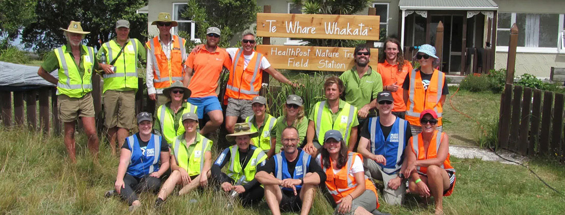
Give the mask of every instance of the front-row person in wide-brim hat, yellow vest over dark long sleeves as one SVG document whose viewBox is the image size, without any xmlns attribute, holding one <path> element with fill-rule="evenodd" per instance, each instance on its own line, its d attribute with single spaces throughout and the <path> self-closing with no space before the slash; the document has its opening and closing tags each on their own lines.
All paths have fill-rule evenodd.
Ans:
<svg viewBox="0 0 565 215">
<path fill-rule="evenodd" d="M 263 165 L 267 155 L 262 149 L 250 145 L 251 138 L 257 137 L 257 132 L 251 132 L 247 123 L 237 123 L 235 133 L 225 138 L 236 145 L 225 149 L 212 165 L 212 178 L 216 180 L 225 192 L 235 191 L 244 205 L 258 203 L 263 199 L 263 187 L 255 179 L 257 167 Z M 221 168 L 229 162 L 226 173 Z"/>
</svg>

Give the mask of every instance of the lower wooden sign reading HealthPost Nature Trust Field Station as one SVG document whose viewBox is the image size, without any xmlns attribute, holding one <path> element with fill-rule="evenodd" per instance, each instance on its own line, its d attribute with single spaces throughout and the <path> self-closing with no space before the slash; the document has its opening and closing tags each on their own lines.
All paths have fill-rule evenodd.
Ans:
<svg viewBox="0 0 565 215">
<path fill-rule="evenodd" d="M 275 69 L 345 71 L 355 65 L 355 48 L 257 45 Z M 369 65 L 377 69 L 379 50 L 371 48 Z"/>
</svg>

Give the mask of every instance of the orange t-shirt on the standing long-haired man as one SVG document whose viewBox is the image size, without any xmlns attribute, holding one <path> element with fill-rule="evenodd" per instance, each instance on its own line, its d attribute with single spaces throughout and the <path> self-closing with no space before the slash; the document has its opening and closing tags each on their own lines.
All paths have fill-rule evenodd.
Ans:
<svg viewBox="0 0 565 215">
<path fill-rule="evenodd" d="M 381 78 L 383 78 L 383 90 L 385 89 L 385 86 L 389 86 L 390 84 L 396 84 L 398 86 L 398 90 L 396 92 L 392 92 L 392 97 L 394 98 L 394 108 L 392 111 L 406 111 L 402 84 L 404 83 L 404 79 L 406 79 L 408 72 L 412 71 L 412 64 L 410 64 L 410 61 L 405 61 L 404 65 L 402 65 L 402 71 L 398 71 L 398 64 L 390 65 L 385 60 L 385 62 L 377 64 L 377 71 L 381 74 Z"/>
</svg>

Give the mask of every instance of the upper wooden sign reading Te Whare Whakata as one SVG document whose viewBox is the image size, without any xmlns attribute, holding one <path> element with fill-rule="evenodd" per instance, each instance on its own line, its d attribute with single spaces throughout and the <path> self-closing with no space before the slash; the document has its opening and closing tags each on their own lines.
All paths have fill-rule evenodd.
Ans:
<svg viewBox="0 0 565 215">
<path fill-rule="evenodd" d="M 379 40 L 379 16 L 257 14 L 259 37 Z"/>
</svg>

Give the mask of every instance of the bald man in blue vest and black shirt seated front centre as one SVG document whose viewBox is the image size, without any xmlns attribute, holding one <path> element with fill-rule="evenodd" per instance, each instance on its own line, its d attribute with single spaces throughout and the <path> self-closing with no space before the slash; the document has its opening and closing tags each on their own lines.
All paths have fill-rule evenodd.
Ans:
<svg viewBox="0 0 565 215">
<path fill-rule="evenodd" d="M 308 214 L 314 201 L 315 187 L 325 181 L 325 173 L 298 145 L 298 130 L 282 130 L 282 151 L 259 167 L 255 178 L 265 186 L 265 199 L 275 215 L 280 210 Z"/>
</svg>

